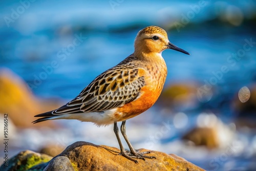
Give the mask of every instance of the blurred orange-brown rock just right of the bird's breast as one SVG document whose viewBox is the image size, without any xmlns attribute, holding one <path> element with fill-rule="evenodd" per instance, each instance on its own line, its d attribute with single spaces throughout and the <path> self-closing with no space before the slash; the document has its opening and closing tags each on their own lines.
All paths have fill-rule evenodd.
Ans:
<svg viewBox="0 0 256 171">
<path fill-rule="evenodd" d="M 193 109 L 199 105 L 195 83 L 175 83 L 167 86 L 161 93 L 156 104 L 169 110 Z"/>
</svg>

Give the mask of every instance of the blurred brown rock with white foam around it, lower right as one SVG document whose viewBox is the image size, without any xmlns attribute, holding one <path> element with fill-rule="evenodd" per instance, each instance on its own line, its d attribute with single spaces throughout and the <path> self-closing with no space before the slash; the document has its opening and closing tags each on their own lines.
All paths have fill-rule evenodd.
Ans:
<svg viewBox="0 0 256 171">
<path fill-rule="evenodd" d="M 209 149 L 225 148 L 233 141 L 235 132 L 236 126 L 233 123 L 225 125 L 216 115 L 201 113 L 197 126 L 182 138 L 194 145 L 205 145 Z"/>
</svg>

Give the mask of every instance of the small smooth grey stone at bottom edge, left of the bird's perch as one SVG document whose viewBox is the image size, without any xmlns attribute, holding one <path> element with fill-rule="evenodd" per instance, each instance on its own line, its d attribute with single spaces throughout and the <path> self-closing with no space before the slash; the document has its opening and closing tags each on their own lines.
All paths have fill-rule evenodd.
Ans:
<svg viewBox="0 0 256 171">
<path fill-rule="evenodd" d="M 65 156 L 59 156 L 51 160 L 51 162 L 46 166 L 44 171 L 75 171 L 69 158 Z"/>
</svg>

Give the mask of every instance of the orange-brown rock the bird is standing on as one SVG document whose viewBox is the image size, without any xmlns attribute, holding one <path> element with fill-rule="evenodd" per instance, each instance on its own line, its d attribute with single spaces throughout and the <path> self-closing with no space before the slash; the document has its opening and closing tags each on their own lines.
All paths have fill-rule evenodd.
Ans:
<svg viewBox="0 0 256 171">
<path fill-rule="evenodd" d="M 115 147 L 79 141 L 58 156 L 68 157 L 77 170 L 204 170 L 181 157 L 162 152 L 150 151 L 148 155 L 156 159 L 138 159 L 139 164 L 120 156 L 119 152 Z"/>
</svg>

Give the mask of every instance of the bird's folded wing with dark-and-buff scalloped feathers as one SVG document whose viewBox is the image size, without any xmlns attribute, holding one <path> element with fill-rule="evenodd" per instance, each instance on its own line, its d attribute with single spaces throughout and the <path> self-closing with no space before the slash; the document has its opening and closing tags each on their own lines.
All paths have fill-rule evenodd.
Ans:
<svg viewBox="0 0 256 171">
<path fill-rule="evenodd" d="M 144 76 L 139 68 L 116 66 L 96 77 L 81 93 L 54 115 L 101 112 L 129 103 L 140 95 Z"/>
</svg>

